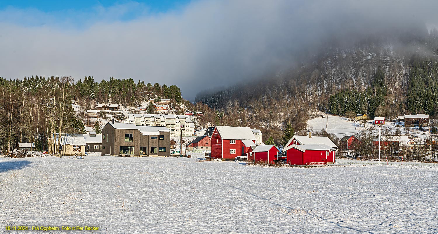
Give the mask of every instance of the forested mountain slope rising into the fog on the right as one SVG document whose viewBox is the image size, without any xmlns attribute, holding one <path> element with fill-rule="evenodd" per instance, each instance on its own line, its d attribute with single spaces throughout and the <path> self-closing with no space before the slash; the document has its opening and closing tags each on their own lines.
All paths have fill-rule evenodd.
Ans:
<svg viewBox="0 0 438 234">
<path fill-rule="evenodd" d="M 200 93 L 195 102 L 217 110 L 205 118 L 218 124 L 265 129 L 283 129 L 291 122 L 295 130 L 304 130 L 310 109 L 337 115 L 434 114 L 437 54 L 436 29 L 397 38 L 373 36 L 349 47 L 321 48 L 286 71 Z"/>
</svg>

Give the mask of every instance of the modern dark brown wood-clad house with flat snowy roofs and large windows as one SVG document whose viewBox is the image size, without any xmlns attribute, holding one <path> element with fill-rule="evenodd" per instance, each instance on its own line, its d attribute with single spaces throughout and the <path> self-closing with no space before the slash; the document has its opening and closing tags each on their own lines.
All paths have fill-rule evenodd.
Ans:
<svg viewBox="0 0 438 234">
<path fill-rule="evenodd" d="M 169 156 L 170 130 L 109 122 L 102 129 L 102 155 Z"/>
</svg>

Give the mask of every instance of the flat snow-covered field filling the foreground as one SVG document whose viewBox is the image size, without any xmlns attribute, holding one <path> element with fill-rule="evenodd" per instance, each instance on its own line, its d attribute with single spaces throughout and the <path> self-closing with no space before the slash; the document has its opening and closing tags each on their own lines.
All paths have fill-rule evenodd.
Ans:
<svg viewBox="0 0 438 234">
<path fill-rule="evenodd" d="M 100 230 L 87 233 L 109 234 L 438 233 L 438 164 L 195 161 L 0 158 L 0 233 L 10 225 L 95 225 Z"/>
</svg>

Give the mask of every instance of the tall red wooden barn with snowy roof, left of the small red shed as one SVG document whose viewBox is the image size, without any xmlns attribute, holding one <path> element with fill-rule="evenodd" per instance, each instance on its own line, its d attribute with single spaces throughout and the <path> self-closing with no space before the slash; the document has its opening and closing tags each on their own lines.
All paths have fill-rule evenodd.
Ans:
<svg viewBox="0 0 438 234">
<path fill-rule="evenodd" d="M 249 127 L 216 126 L 211 137 L 212 158 L 246 156 L 255 137 Z"/>
</svg>

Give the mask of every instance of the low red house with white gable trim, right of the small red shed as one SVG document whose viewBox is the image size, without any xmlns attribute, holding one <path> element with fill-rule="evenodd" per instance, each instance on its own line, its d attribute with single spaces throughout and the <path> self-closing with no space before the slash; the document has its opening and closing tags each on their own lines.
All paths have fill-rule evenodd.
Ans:
<svg viewBox="0 0 438 234">
<path fill-rule="evenodd" d="M 335 162 L 338 147 L 329 137 L 293 136 L 283 152 L 290 165 L 327 164 Z"/>
</svg>

